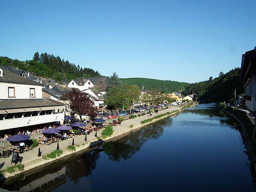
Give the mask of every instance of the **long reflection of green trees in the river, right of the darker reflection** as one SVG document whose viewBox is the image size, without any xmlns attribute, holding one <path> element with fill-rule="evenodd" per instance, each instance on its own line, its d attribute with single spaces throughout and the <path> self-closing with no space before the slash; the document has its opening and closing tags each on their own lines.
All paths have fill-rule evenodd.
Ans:
<svg viewBox="0 0 256 192">
<path fill-rule="evenodd" d="M 163 119 L 148 125 L 128 136 L 122 137 L 114 142 L 107 142 L 102 145 L 103 151 L 108 155 L 109 160 L 120 162 L 130 159 L 144 143 L 151 139 L 158 139 L 163 135 L 163 127 L 171 125 L 172 119 Z"/>
</svg>

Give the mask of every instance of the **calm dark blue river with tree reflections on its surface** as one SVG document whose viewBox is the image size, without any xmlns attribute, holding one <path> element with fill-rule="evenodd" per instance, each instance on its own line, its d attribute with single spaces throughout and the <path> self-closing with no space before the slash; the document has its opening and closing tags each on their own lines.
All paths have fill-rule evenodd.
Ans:
<svg viewBox="0 0 256 192">
<path fill-rule="evenodd" d="M 232 119 L 216 104 L 197 105 L 1 187 L 24 192 L 255 191 L 244 150 Z"/>
</svg>

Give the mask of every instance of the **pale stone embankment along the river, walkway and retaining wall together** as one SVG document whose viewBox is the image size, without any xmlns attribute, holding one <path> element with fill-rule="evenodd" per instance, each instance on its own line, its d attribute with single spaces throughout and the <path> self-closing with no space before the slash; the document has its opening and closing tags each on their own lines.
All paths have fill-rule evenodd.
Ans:
<svg viewBox="0 0 256 192">
<path fill-rule="evenodd" d="M 0 179 L 5 179 L 7 177 L 15 176 L 22 172 L 36 172 L 38 169 L 43 169 L 44 165 L 47 165 L 49 163 L 53 163 L 56 160 L 64 160 L 68 158 L 70 155 L 74 155 L 79 151 L 86 152 L 92 150 L 95 146 L 102 144 L 105 141 L 111 140 L 115 137 L 119 137 L 123 134 L 129 134 L 131 131 L 134 131 L 138 128 L 142 128 L 143 126 L 146 126 L 148 124 L 154 123 L 159 121 L 160 119 L 166 118 L 168 116 L 172 116 L 175 113 L 172 113 L 174 111 L 182 111 L 181 107 L 169 107 L 168 109 L 158 111 L 158 113 L 153 113 L 152 116 L 149 114 L 145 114 L 143 116 L 137 116 L 134 119 L 127 119 L 121 123 L 121 125 L 117 125 L 113 127 L 113 134 L 110 137 L 107 137 L 105 139 L 102 139 L 100 136 L 102 134 L 102 130 L 94 132 L 87 135 L 86 137 L 84 135 L 73 137 L 67 140 L 63 140 L 58 143 L 53 143 L 51 145 L 38 145 L 37 148 L 33 149 L 32 151 L 24 152 L 23 154 L 20 154 L 21 164 L 24 166 L 23 170 L 16 170 L 16 172 L 9 174 L 8 172 L 3 172 L 3 175 L 0 177 Z M 163 116 L 158 119 L 153 119 L 153 117 L 165 114 L 167 112 L 171 112 L 172 114 Z M 178 113 L 176 112 L 176 113 Z M 142 124 L 141 122 L 145 119 L 151 119 L 151 122 Z M 87 141 L 86 141 L 87 140 Z M 72 145 L 74 142 L 76 151 L 67 149 L 68 145 Z M 59 157 L 56 157 L 55 159 L 48 159 L 46 160 L 44 156 L 46 154 L 49 154 L 50 152 L 54 151 L 57 148 L 57 145 L 59 146 L 59 149 L 63 151 L 63 154 L 61 154 Z M 38 157 L 39 156 L 39 157 Z M 12 157 L 9 158 L 0 159 L 0 171 L 6 170 L 8 167 L 13 166 L 11 164 Z"/>
</svg>

